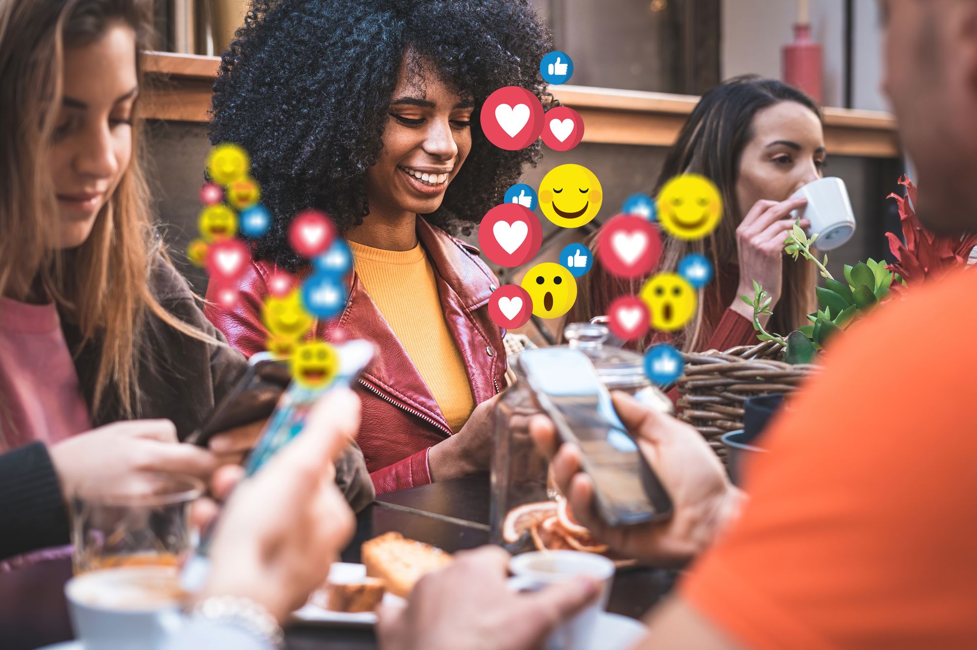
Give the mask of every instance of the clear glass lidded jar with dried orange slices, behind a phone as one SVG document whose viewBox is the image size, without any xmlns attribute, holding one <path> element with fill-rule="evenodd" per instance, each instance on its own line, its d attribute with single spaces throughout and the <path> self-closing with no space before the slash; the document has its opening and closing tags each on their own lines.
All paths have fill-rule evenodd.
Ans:
<svg viewBox="0 0 977 650">
<path fill-rule="evenodd" d="M 610 343 L 607 326 L 573 323 L 564 331 L 568 347 L 585 353 L 609 390 L 622 390 L 652 408 L 672 412 L 671 400 L 648 380 L 644 357 Z M 541 413 L 525 371 L 510 359 L 516 382 L 495 406 L 494 450 L 491 462 L 491 541 L 511 552 L 535 548 L 567 548 L 554 525 L 558 493 L 549 478 L 549 462 L 535 448 L 529 430 L 532 416 Z M 551 542 L 557 543 L 553 547 Z M 579 539 L 569 539 L 576 548 Z"/>
</svg>

